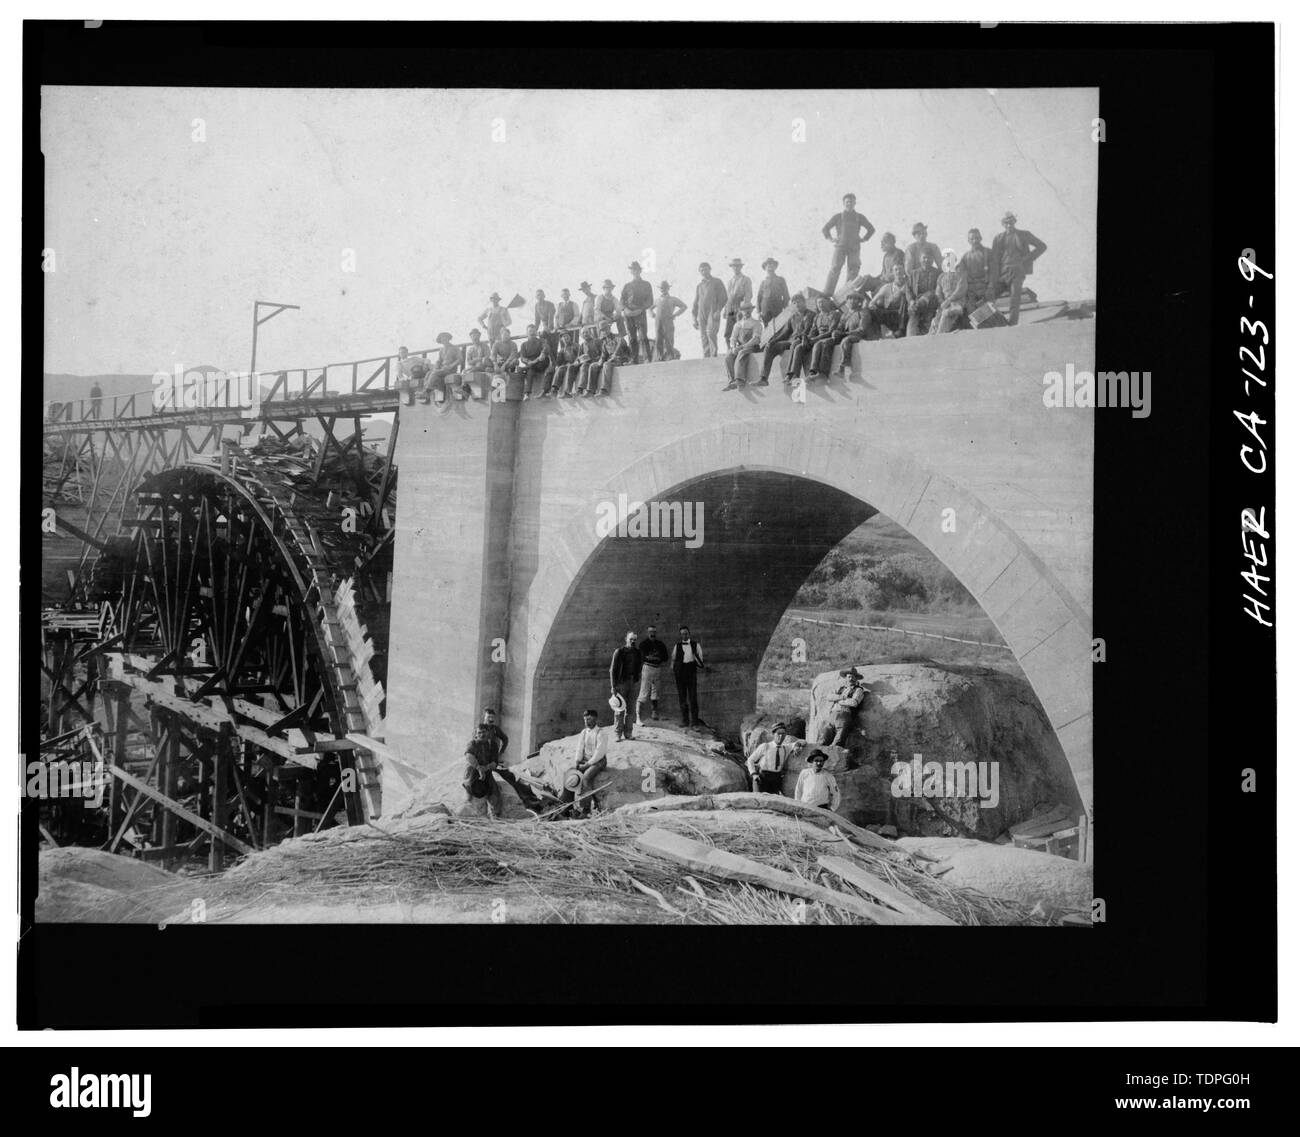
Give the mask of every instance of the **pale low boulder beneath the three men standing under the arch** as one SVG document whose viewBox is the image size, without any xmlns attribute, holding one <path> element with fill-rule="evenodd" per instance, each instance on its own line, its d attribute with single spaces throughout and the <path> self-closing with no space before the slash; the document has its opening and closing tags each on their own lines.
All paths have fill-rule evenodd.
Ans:
<svg viewBox="0 0 1300 1137">
<path fill-rule="evenodd" d="M 607 738 L 608 765 L 597 785 L 608 787 L 595 795 L 602 810 L 630 802 L 649 802 L 668 794 L 729 794 L 749 789 L 749 776 L 738 755 L 722 739 L 671 726 L 637 728 L 630 741 L 616 742 L 614 728 L 602 728 Z M 516 767 L 532 778 L 560 785 L 563 772 L 573 765 L 577 735 L 547 742 L 538 754 Z M 519 799 L 502 787 L 504 816 L 524 816 Z"/>
</svg>

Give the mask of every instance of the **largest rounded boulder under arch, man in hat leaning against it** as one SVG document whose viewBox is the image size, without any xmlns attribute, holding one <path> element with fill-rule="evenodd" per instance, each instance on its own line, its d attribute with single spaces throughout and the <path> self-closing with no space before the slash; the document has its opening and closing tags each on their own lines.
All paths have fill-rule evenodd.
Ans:
<svg viewBox="0 0 1300 1137">
<path fill-rule="evenodd" d="M 850 821 L 894 825 L 904 834 L 992 841 L 1010 825 L 1056 806 L 1083 811 L 1056 732 L 1022 678 L 991 668 L 918 663 L 859 665 L 858 671 L 868 695 L 845 738 L 844 772 L 836 773 L 840 812 Z M 837 671 L 812 681 L 807 734 L 814 742 L 832 722 L 840 682 Z M 840 756 L 833 747 L 823 748 L 832 754 L 835 771 Z M 985 789 L 992 787 L 991 764 L 996 763 L 996 804 L 991 794 L 982 802 L 959 793 L 959 777 L 954 785 L 945 777 L 937 794 L 933 781 L 927 786 L 924 780 L 914 785 L 910 777 L 897 778 L 894 763 L 911 765 L 915 755 L 927 777 L 935 769 L 928 763 L 939 763 L 945 774 L 949 769 L 954 776 L 983 771 Z M 793 793 L 801 768 L 802 761 L 788 771 L 786 793 Z"/>
</svg>

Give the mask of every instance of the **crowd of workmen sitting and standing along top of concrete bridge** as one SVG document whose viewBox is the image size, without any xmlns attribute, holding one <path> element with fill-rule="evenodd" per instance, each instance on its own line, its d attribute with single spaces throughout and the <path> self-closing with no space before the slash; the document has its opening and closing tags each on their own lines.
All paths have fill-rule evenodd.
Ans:
<svg viewBox="0 0 1300 1137">
<path fill-rule="evenodd" d="M 1019 321 L 1024 279 L 1046 251 L 1032 233 L 1017 229 L 1013 213 L 1002 217 L 1002 233 L 991 248 L 984 247 L 978 229 L 970 230 L 970 249 L 959 257 L 953 249 L 940 252 L 918 221 L 905 249 L 897 247 L 892 233 L 885 233 L 880 239 L 880 274 L 859 275 L 862 243 L 875 231 L 858 213 L 857 198 L 845 194 L 844 208 L 822 227 L 823 236 L 835 246 L 826 291 L 809 290 L 815 308 L 809 307 L 805 294 L 794 295 L 794 312 L 766 346 L 766 329 L 785 314 L 792 301 L 784 278 L 776 274 L 776 259 L 763 261 L 764 275 L 757 290 L 740 257 L 728 262 L 732 275 L 725 282 L 712 274 L 707 261 L 701 261 L 690 321 L 699 330 L 706 359 L 719 353 L 722 330 L 728 378 L 724 390 L 745 385 L 744 364 L 759 352 L 762 370 L 755 386 L 767 386 L 777 357 L 784 359 L 786 382 L 794 382 L 805 370 L 810 379 L 829 378 L 836 347 L 842 348 L 841 366 L 848 373 L 853 348 L 863 340 L 994 326 L 1001 317 L 993 301 L 1005 294 L 1010 295 L 1008 321 L 1014 325 Z M 849 292 L 837 303 L 835 291 L 845 265 Z M 599 296 L 589 281 L 582 281 L 581 301 L 562 288 L 556 304 L 538 288 L 532 322 L 519 342 L 510 334 L 510 313 L 525 304 L 524 298 L 502 304 L 500 294 L 493 292 L 463 350 L 443 331 L 432 360 L 413 357 L 406 347 L 398 351 L 398 390 L 406 392 L 407 405 L 417 394 L 424 403 L 432 395 L 432 402 L 442 405 L 448 382 L 452 398 L 468 399 L 477 396 L 474 379 L 490 382 L 503 376 L 523 379 L 525 400 L 534 394 L 541 399 L 599 398 L 610 394 L 616 368 L 680 359 L 676 320 L 688 311 L 686 304 L 672 295 L 667 281 L 659 283 L 655 299 L 638 261 L 632 261 L 628 272 L 632 279 L 618 296 L 610 279 L 602 283 Z M 651 312 L 654 342 L 649 333 Z"/>
</svg>

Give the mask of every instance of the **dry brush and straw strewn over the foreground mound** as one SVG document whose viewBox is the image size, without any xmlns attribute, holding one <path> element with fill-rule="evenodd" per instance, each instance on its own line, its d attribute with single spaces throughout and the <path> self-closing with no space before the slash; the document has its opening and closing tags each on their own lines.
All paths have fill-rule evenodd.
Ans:
<svg viewBox="0 0 1300 1137">
<path fill-rule="evenodd" d="M 480 819 L 426 819 L 393 830 L 339 829 L 286 842 L 250 858 L 204 894 L 225 913 L 274 911 L 291 904 L 420 906 L 441 899 L 508 894 L 532 898 L 545 923 L 866 924 L 833 906 L 689 875 L 650 856 L 636 838 L 671 828 L 719 849 L 797 873 L 805 880 L 872 901 L 826 873 L 828 852 L 849 856 L 880 880 L 966 925 L 1046 925 L 1022 904 L 927 876 L 902 850 L 863 849 L 812 825 L 762 812 L 611 813 L 590 821 L 549 824 Z"/>
</svg>

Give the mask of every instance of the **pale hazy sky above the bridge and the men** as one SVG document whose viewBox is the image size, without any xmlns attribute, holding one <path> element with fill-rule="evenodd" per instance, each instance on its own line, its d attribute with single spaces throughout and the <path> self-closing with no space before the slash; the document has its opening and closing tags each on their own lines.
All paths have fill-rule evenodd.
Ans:
<svg viewBox="0 0 1300 1137">
<path fill-rule="evenodd" d="M 276 370 L 464 340 L 491 291 L 578 299 L 633 259 L 688 305 L 701 260 L 820 287 L 845 192 L 866 270 L 880 231 L 962 252 L 1011 209 L 1039 295 L 1093 299 L 1096 114 L 1095 88 L 47 87 L 44 370 L 247 369 L 255 299 L 302 309 L 259 331 Z"/>
</svg>

